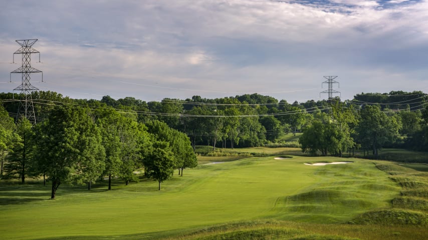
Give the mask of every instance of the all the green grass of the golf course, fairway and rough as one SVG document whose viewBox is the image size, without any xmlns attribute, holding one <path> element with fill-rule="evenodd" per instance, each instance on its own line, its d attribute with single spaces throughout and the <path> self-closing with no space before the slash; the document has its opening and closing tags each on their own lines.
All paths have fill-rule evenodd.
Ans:
<svg viewBox="0 0 428 240">
<path fill-rule="evenodd" d="M 279 149 L 280 154 L 273 151 L 278 148 L 245 150 L 289 154 L 282 153 L 284 149 Z M 204 157 L 200 160 L 210 161 Z M 185 169 L 182 177 L 174 176 L 162 183 L 161 191 L 156 190 L 157 182 L 152 180 L 142 179 L 125 186 L 120 179 L 114 179 L 111 191 L 106 190 L 105 182 L 97 182 L 91 191 L 85 186 L 61 185 L 57 199 L 49 200 L 49 185 L 2 184 L 0 239 L 426 237 L 422 222 L 426 210 L 414 206 L 410 209 L 411 204 L 406 203 L 410 198 L 425 200 L 425 188 L 404 184 L 426 183 L 424 172 L 357 158 L 347 159 L 353 163 L 326 166 L 303 163 L 343 158 L 268 156 L 220 160 L 225 162 Z M 423 205 L 420 201 L 412 204 Z M 410 222 L 364 224 L 382 210 L 398 212 L 397 217 L 408 217 Z"/>
</svg>

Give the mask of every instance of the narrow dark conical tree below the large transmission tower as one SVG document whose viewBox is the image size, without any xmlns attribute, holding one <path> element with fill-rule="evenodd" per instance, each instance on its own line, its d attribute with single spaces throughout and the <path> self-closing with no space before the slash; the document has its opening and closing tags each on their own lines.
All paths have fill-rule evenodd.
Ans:
<svg viewBox="0 0 428 240">
<path fill-rule="evenodd" d="M 18 122 L 16 141 L 6 157 L 8 164 L 5 167 L 6 178 L 19 178 L 25 183 L 25 178 L 34 176 L 32 167 L 34 153 L 34 131 L 32 124 L 27 118 L 21 118 Z"/>
</svg>

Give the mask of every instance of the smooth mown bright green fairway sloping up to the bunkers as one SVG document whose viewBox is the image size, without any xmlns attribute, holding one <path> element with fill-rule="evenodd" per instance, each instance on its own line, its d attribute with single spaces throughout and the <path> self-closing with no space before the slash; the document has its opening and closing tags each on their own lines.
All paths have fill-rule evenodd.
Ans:
<svg viewBox="0 0 428 240">
<path fill-rule="evenodd" d="M 148 180 L 111 191 L 60 186 L 56 200 L 48 200 L 49 186 L 4 186 L 0 238 L 149 236 L 256 218 L 343 222 L 389 206 L 398 195 L 397 183 L 371 161 L 303 164 L 320 159 L 253 157 L 200 165 L 165 181 L 161 191 Z"/>
</svg>

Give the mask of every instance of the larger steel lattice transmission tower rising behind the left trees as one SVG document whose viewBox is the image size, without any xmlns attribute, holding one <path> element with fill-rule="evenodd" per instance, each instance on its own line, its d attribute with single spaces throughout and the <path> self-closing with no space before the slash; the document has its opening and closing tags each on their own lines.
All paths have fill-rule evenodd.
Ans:
<svg viewBox="0 0 428 240">
<path fill-rule="evenodd" d="M 11 72 L 11 82 L 12 82 L 12 73 L 22 73 L 22 83 L 14 89 L 15 91 L 21 91 L 21 101 L 18 108 L 17 120 L 21 117 L 26 117 L 33 125 L 36 124 L 36 114 L 34 113 L 33 106 L 33 97 L 32 92 L 38 91 L 39 88 L 33 86 L 30 83 L 32 72 L 42 72 L 31 66 L 31 54 L 39 53 L 39 62 L 40 62 L 40 52 L 33 48 L 33 44 L 37 39 L 26 39 L 26 40 L 16 40 L 18 44 L 21 45 L 21 48 L 16 50 L 13 54 L 13 62 L 15 63 L 15 54 L 22 54 L 22 66 L 18 69 Z M 42 81 L 43 81 L 43 72 L 42 72 Z"/>
</svg>

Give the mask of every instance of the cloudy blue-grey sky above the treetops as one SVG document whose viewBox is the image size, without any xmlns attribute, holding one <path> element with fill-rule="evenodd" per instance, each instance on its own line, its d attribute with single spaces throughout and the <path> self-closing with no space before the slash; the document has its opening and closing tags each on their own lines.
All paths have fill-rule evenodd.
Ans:
<svg viewBox="0 0 428 240">
<path fill-rule="evenodd" d="M 0 0 L 0 92 L 145 101 L 259 93 L 288 102 L 428 92 L 424 0 Z M 12 82 L 10 82 L 12 80 Z M 334 96 L 339 95 L 335 94 Z"/>
</svg>

